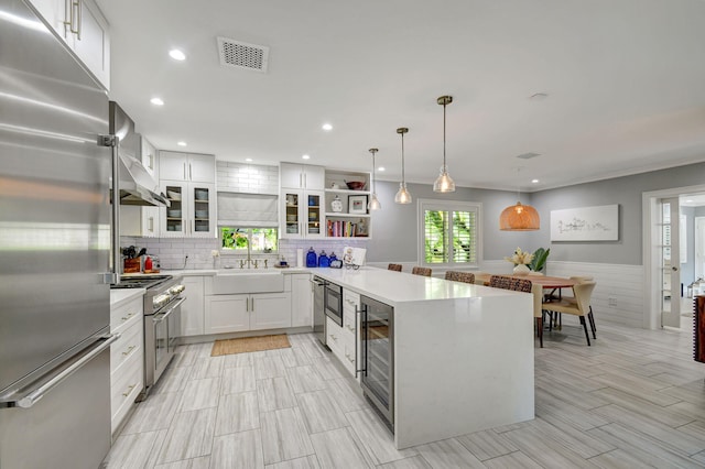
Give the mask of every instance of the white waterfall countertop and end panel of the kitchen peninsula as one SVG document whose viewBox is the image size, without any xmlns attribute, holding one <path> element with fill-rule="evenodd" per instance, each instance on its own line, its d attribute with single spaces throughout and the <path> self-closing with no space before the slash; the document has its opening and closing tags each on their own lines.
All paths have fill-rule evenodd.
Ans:
<svg viewBox="0 0 705 469">
<path fill-rule="evenodd" d="M 373 268 L 311 271 L 393 307 L 397 448 L 533 418 L 530 294 Z"/>
</svg>

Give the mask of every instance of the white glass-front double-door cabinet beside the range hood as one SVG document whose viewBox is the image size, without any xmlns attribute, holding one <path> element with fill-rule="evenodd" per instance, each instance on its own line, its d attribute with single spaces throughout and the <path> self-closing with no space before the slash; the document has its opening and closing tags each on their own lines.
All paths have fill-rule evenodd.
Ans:
<svg viewBox="0 0 705 469">
<path fill-rule="evenodd" d="M 215 237 L 215 184 L 162 181 L 162 185 L 171 204 L 161 209 L 162 237 Z"/>
</svg>

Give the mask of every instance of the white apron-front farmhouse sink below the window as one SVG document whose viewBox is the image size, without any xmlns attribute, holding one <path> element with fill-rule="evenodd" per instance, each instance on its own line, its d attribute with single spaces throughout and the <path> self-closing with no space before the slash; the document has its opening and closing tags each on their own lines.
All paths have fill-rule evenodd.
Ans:
<svg viewBox="0 0 705 469">
<path fill-rule="evenodd" d="M 219 270 L 213 277 L 212 295 L 284 291 L 284 275 L 273 269 Z"/>
</svg>

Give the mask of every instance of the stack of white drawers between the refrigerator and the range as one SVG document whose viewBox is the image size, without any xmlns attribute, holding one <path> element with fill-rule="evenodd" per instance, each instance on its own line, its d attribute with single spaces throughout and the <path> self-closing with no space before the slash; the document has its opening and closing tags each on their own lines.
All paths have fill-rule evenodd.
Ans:
<svg viewBox="0 0 705 469">
<path fill-rule="evenodd" d="M 120 334 L 110 346 L 110 415 L 115 434 L 144 385 L 141 296 L 110 312 L 110 332 Z"/>
</svg>

